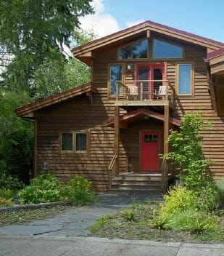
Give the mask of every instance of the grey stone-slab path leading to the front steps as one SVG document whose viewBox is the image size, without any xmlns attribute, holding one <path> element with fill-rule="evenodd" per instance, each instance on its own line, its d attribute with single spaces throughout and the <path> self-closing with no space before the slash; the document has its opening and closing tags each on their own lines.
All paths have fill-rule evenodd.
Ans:
<svg viewBox="0 0 224 256">
<path fill-rule="evenodd" d="M 46 220 L 36 220 L 24 225 L 8 225 L 0 228 L 0 234 L 11 235 L 51 235 L 89 236 L 88 226 L 102 215 L 111 215 L 119 208 L 128 207 L 133 201 L 141 202 L 149 196 L 128 196 L 103 194 L 98 204 L 71 209 L 62 215 Z"/>
</svg>

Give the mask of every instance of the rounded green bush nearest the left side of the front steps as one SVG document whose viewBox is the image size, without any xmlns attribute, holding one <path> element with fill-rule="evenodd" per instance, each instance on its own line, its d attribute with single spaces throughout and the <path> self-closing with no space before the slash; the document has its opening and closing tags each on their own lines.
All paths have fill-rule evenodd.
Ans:
<svg viewBox="0 0 224 256">
<path fill-rule="evenodd" d="M 62 188 L 63 199 L 70 199 L 73 204 L 83 204 L 94 199 L 91 182 L 84 177 L 75 176 L 67 187 Z"/>
</svg>

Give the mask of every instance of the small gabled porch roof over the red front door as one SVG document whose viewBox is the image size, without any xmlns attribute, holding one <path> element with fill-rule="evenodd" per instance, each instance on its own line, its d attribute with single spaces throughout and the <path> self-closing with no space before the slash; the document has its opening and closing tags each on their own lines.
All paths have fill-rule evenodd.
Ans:
<svg viewBox="0 0 224 256">
<path fill-rule="evenodd" d="M 128 113 L 120 115 L 120 122 L 125 121 L 127 123 L 130 123 L 130 122 L 136 121 L 136 118 L 141 119 L 141 116 L 150 116 L 154 119 L 164 121 L 164 115 L 154 112 L 154 111 L 149 111 L 149 109 L 146 109 L 146 108 L 138 108 L 135 111 L 130 111 Z M 175 119 L 173 117 L 170 117 L 169 121 L 170 121 L 170 124 L 174 124 L 178 127 L 181 126 L 180 119 Z M 114 124 L 115 124 L 115 119 L 113 117 L 108 119 L 107 121 L 104 121 L 105 127 L 113 127 Z"/>
</svg>

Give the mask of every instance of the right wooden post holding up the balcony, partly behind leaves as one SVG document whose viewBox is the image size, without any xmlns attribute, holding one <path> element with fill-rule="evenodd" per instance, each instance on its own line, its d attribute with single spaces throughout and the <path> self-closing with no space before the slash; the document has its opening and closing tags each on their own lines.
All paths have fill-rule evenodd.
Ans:
<svg viewBox="0 0 224 256">
<path fill-rule="evenodd" d="M 164 144 L 163 144 L 163 153 L 169 152 L 169 144 L 167 143 L 169 137 L 169 105 L 164 106 Z M 167 163 L 164 164 L 164 171 L 162 172 L 162 186 L 167 188 L 168 185 L 168 168 Z"/>
</svg>

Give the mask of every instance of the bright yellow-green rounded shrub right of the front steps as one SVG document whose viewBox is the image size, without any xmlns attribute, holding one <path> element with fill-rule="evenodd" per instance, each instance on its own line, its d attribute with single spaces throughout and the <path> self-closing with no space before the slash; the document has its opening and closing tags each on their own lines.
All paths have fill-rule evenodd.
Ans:
<svg viewBox="0 0 224 256">
<path fill-rule="evenodd" d="M 169 220 L 170 216 L 186 209 L 196 209 L 197 196 L 188 188 L 175 186 L 165 196 L 161 204 L 162 220 Z"/>
</svg>

